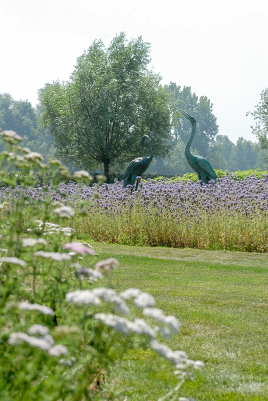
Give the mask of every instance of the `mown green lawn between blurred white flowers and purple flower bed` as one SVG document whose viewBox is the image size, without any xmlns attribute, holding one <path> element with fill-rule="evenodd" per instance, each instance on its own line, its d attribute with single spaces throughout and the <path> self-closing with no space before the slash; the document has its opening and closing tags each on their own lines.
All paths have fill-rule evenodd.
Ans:
<svg viewBox="0 0 268 401">
<path fill-rule="evenodd" d="M 147 291 L 179 318 L 181 332 L 166 344 L 205 362 L 180 396 L 268 400 L 268 255 L 92 245 L 100 259 L 119 260 L 117 291 Z M 173 370 L 152 351 L 131 350 L 111 372 L 114 391 L 131 387 L 128 400 L 156 400 L 176 385 Z"/>
</svg>

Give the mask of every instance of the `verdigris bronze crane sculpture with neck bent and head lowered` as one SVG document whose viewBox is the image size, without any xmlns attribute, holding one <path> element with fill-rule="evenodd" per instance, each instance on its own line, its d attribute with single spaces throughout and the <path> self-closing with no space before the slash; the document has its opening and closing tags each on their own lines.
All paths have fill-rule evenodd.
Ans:
<svg viewBox="0 0 268 401">
<path fill-rule="evenodd" d="M 145 139 L 147 139 L 147 142 L 148 142 L 149 153 L 150 153 L 149 157 L 144 157 L 144 141 L 145 141 Z M 139 144 L 141 146 L 142 157 L 136 157 L 134 160 L 130 161 L 130 163 L 128 164 L 127 169 L 125 170 L 124 175 L 123 175 L 124 188 L 127 185 L 134 185 L 136 177 L 143 174 L 143 172 L 149 167 L 149 164 L 151 162 L 153 154 L 152 154 L 150 138 L 148 137 L 148 135 L 143 135 L 139 141 Z M 140 181 L 140 179 L 139 180 L 137 179 L 135 191 L 138 188 L 139 181 Z"/>
</svg>

